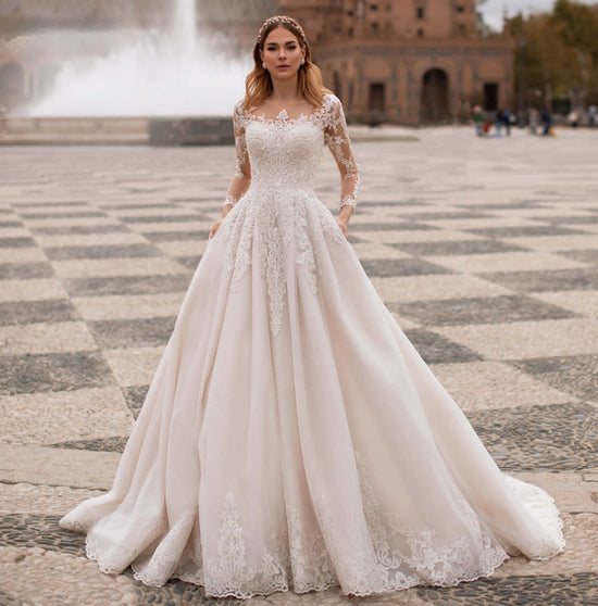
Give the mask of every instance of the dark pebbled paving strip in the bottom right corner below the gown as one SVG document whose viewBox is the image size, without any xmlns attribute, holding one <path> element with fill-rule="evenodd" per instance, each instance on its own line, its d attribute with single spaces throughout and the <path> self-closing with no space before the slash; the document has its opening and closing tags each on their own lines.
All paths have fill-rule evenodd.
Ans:
<svg viewBox="0 0 598 606">
<path fill-rule="evenodd" d="M 598 575 L 490 578 L 416 591 L 424 602 L 438 606 L 597 606 Z"/>
</svg>

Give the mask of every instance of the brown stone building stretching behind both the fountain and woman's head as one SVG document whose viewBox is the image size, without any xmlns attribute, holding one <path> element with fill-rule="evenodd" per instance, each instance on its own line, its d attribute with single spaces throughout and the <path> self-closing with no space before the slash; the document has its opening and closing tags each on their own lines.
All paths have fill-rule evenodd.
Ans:
<svg viewBox="0 0 598 606">
<path fill-rule="evenodd" d="M 0 0 L 0 106 L 43 94 L 65 56 L 109 52 L 114 37 L 103 39 L 102 30 L 167 26 L 173 5 Z M 224 35 L 232 53 L 251 48 L 263 18 L 296 16 L 325 85 L 356 122 L 444 122 L 469 115 L 475 103 L 488 111 L 512 103 L 512 42 L 478 36 L 475 0 L 196 0 L 196 9 L 200 35 Z M 64 28 L 98 31 L 95 48 L 85 36 L 68 36 L 65 47 L 65 37 L 51 34 Z"/>
</svg>

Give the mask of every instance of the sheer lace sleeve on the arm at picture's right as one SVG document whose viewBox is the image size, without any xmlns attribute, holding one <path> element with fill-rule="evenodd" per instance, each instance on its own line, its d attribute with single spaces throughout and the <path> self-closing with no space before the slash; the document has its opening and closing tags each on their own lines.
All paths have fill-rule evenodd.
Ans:
<svg viewBox="0 0 598 606">
<path fill-rule="evenodd" d="M 326 102 L 331 106 L 326 112 L 324 140 L 340 172 L 340 207 L 345 205 L 354 207 L 361 179 L 351 149 L 347 121 L 345 119 L 342 105 L 336 97 L 328 96 Z"/>
</svg>

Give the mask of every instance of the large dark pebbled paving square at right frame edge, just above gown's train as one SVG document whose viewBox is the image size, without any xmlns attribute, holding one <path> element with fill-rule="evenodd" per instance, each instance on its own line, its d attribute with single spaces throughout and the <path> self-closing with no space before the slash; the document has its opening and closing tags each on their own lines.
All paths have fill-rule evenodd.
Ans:
<svg viewBox="0 0 598 606">
<path fill-rule="evenodd" d="M 555 404 L 468 413 L 507 471 L 581 471 L 598 467 L 598 408 Z"/>
</svg>

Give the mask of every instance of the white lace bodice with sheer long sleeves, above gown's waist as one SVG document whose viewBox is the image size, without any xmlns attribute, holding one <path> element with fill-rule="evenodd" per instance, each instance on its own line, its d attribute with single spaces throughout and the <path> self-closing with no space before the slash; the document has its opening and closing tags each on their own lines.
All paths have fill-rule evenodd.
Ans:
<svg viewBox="0 0 598 606">
<path fill-rule="evenodd" d="M 274 119 L 256 116 L 239 101 L 234 124 L 237 167 L 225 204 L 234 205 L 249 187 L 313 191 L 321 150 L 327 144 L 340 171 L 340 205 L 354 206 L 359 173 L 342 105 L 334 94 L 324 96 L 315 112 L 296 118 L 286 111 Z"/>
</svg>

